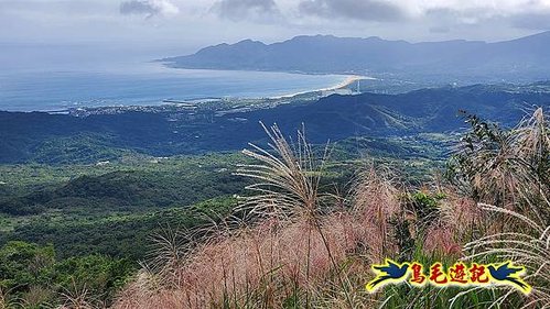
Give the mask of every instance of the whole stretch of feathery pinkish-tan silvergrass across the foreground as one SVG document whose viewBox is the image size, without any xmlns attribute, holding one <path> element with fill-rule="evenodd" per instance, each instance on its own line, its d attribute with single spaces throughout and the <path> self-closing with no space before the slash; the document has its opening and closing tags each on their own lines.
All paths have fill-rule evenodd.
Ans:
<svg viewBox="0 0 550 309">
<path fill-rule="evenodd" d="M 474 143 L 468 152 L 472 157 L 462 162 L 467 164 L 462 172 L 471 174 L 462 180 L 475 188 L 476 200 L 453 194 L 456 187 L 445 188 L 446 198 L 439 202 L 434 218 L 423 221 L 414 209 L 406 209 L 402 198 L 409 195 L 393 186 L 391 174 L 374 167 L 360 175 L 352 198 L 322 192 L 328 147 L 315 155 L 303 131 L 293 144 L 277 125 L 263 126 L 269 148 L 250 144 L 244 154 L 256 163 L 239 166 L 236 173 L 257 181 L 248 187 L 254 195 L 245 198 L 234 214 L 213 220 L 208 228 L 158 236 L 155 257 L 114 307 L 373 308 L 392 304 L 412 308 L 432 300 L 454 304 L 459 296 L 453 298 L 444 289 L 402 294 L 400 287 L 391 287 L 387 295 L 364 290 L 373 276 L 371 264 L 400 255 L 391 223 L 396 217 L 405 223 L 423 224 L 421 232 L 409 235 L 421 249 L 414 251 L 421 258 L 441 254 L 460 258 L 464 255 L 460 244 L 470 242 L 470 258 L 502 254 L 526 265 L 527 279 L 533 285 L 526 306 L 550 306 L 549 203 L 543 194 L 548 190 L 544 153 L 550 148 L 546 123 L 537 111 L 515 131 L 490 133 L 490 141 L 483 140 L 484 135 Z M 520 232 L 526 228 L 530 232 Z M 459 304 L 489 306 L 496 298 L 478 298 L 475 293 L 460 293 L 472 297 Z M 497 300 L 505 304 L 507 295 Z"/>
</svg>

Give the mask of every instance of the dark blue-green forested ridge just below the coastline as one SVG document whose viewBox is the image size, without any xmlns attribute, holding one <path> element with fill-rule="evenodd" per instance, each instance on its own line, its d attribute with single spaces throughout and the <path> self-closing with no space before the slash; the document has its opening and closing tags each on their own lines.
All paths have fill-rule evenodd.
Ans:
<svg viewBox="0 0 550 309">
<path fill-rule="evenodd" d="M 126 154 L 171 156 L 235 151 L 262 141 L 258 121 L 292 132 L 306 124 L 313 143 L 352 136 L 390 137 L 463 129 L 460 110 L 504 126 L 550 104 L 550 84 L 422 89 L 400 95 L 333 95 L 269 109 L 128 111 L 75 118 L 0 112 L 1 163 L 97 163 Z"/>
</svg>

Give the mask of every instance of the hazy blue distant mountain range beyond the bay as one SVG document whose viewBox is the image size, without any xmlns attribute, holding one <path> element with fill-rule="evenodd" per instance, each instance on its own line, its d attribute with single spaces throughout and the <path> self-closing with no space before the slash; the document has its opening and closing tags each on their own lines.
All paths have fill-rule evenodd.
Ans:
<svg viewBox="0 0 550 309">
<path fill-rule="evenodd" d="M 513 41 L 409 43 L 379 37 L 296 36 L 281 43 L 246 40 L 161 59 L 177 68 L 308 74 L 439 76 L 468 79 L 550 78 L 550 32 Z"/>
</svg>

